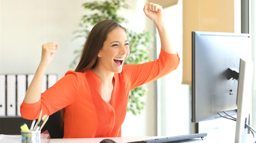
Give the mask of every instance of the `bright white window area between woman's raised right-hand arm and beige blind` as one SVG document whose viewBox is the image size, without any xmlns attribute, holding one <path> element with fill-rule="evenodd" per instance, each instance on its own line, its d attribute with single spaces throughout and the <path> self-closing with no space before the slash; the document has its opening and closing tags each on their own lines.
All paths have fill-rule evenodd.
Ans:
<svg viewBox="0 0 256 143">
<path fill-rule="evenodd" d="M 176 70 L 157 81 L 157 135 L 177 136 L 192 133 L 191 92 L 189 85 L 182 83 L 183 65 L 183 1 L 164 8 L 167 31 L 171 45 L 177 48 L 180 63 Z M 160 53 L 160 38 L 157 36 L 157 56 Z"/>
</svg>

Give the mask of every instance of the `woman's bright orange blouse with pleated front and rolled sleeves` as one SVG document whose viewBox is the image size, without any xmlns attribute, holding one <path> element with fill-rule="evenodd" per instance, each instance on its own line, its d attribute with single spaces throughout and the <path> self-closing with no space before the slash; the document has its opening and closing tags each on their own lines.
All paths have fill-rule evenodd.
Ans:
<svg viewBox="0 0 256 143">
<path fill-rule="evenodd" d="M 41 94 L 32 104 L 23 103 L 20 113 L 28 120 L 51 115 L 65 107 L 63 138 L 121 137 L 129 99 L 129 91 L 159 79 L 179 65 L 179 56 L 161 48 L 157 60 L 143 64 L 123 65 L 114 74 L 111 104 L 101 98 L 101 79 L 91 69 L 84 72 L 69 70 L 64 77 Z"/>
</svg>

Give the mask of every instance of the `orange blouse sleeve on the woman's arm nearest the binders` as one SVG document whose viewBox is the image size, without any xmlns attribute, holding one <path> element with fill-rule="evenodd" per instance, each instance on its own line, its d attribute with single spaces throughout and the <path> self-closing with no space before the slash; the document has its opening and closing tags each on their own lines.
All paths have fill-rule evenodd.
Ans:
<svg viewBox="0 0 256 143">
<path fill-rule="evenodd" d="M 79 78 L 76 72 L 69 70 L 64 77 L 41 94 L 36 103 L 20 105 L 20 114 L 28 120 L 37 119 L 40 111 L 42 115 L 51 115 L 56 111 L 74 103 L 77 96 Z"/>
</svg>

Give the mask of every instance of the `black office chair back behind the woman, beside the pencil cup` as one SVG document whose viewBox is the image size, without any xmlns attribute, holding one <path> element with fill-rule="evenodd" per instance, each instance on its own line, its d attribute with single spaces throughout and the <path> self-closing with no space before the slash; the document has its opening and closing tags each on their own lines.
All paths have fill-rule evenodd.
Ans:
<svg viewBox="0 0 256 143">
<path fill-rule="evenodd" d="M 63 138 L 64 128 L 63 127 L 60 128 L 60 125 L 59 125 L 60 114 L 61 112 L 59 110 L 53 113 L 52 115 L 50 115 L 44 127 L 41 129 L 41 133 L 48 130 L 51 138 Z"/>
</svg>

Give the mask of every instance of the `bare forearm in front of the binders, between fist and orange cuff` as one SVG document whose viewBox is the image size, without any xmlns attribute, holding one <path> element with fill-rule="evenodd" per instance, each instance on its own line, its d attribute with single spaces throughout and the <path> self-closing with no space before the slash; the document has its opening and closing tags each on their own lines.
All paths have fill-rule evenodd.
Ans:
<svg viewBox="0 0 256 143">
<path fill-rule="evenodd" d="M 41 98 L 42 82 L 47 66 L 39 64 L 35 76 L 31 81 L 28 90 L 26 92 L 24 102 L 25 103 L 36 103 Z"/>
</svg>

